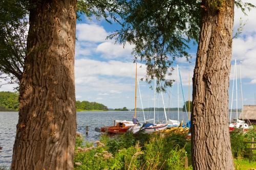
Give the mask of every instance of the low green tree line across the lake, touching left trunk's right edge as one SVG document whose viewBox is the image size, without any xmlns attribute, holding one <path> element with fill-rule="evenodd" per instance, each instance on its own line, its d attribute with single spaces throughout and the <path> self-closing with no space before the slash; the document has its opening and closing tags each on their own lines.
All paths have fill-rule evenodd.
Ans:
<svg viewBox="0 0 256 170">
<path fill-rule="evenodd" d="M 108 107 L 104 106 L 103 104 L 97 102 L 88 102 L 88 101 L 76 101 L 76 110 L 109 110 Z"/>
</svg>

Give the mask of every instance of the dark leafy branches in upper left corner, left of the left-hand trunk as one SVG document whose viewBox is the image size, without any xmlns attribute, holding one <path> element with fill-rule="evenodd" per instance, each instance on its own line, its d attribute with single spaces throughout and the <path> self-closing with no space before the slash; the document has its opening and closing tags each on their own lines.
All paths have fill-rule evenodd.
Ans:
<svg viewBox="0 0 256 170">
<path fill-rule="evenodd" d="M 0 78 L 18 83 L 26 56 L 28 1 L 0 1 L 0 9 Z"/>
</svg>

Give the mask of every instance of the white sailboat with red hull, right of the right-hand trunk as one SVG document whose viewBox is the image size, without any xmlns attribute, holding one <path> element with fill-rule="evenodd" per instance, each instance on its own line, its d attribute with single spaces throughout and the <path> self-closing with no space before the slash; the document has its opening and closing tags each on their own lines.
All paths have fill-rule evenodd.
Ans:
<svg viewBox="0 0 256 170">
<path fill-rule="evenodd" d="M 240 88 L 241 88 L 241 101 L 242 101 L 242 117 L 243 120 L 238 119 L 238 85 L 237 85 L 237 59 L 234 60 L 234 74 L 233 74 L 233 86 L 232 86 L 232 99 L 231 99 L 231 111 L 230 111 L 230 119 L 229 119 L 229 131 L 233 131 L 234 129 L 243 129 L 243 131 L 248 131 L 253 128 L 249 126 L 244 121 L 244 112 L 243 112 L 243 92 L 242 92 L 242 78 L 241 78 L 241 65 L 239 63 L 239 71 L 240 71 Z M 236 76 L 236 78 L 235 78 Z M 233 105 L 233 91 L 234 91 L 234 81 L 236 80 L 236 122 L 231 123 L 231 115 L 232 115 L 232 105 Z"/>
</svg>

